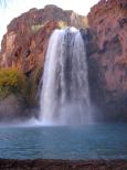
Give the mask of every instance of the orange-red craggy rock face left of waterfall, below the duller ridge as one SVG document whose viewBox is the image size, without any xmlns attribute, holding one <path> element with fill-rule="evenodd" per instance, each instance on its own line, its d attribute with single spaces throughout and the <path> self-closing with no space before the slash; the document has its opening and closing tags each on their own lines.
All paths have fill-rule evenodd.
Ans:
<svg viewBox="0 0 127 170">
<path fill-rule="evenodd" d="M 21 25 L 20 25 L 21 26 Z M 47 40 L 57 23 L 49 21 L 40 31 L 32 32 L 25 24 L 8 31 L 2 41 L 1 67 L 17 66 L 24 73 L 31 72 L 44 62 Z"/>
</svg>

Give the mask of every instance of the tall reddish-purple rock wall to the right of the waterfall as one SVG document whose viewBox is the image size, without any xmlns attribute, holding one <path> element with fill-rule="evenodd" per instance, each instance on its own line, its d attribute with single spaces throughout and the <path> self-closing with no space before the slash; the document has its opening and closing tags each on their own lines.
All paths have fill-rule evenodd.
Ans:
<svg viewBox="0 0 127 170">
<path fill-rule="evenodd" d="M 91 95 L 105 113 L 98 118 L 127 120 L 127 1 L 99 1 L 88 22 Z"/>
</svg>

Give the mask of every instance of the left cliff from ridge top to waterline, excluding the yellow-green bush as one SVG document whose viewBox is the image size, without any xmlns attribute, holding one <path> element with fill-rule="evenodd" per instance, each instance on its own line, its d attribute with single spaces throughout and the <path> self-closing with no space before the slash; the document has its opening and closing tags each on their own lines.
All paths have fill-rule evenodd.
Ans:
<svg viewBox="0 0 127 170">
<path fill-rule="evenodd" d="M 1 43 L 0 68 L 17 67 L 23 72 L 27 76 L 27 89 L 23 96 L 19 94 L 17 97 L 14 94 L 13 100 L 15 103 L 11 103 L 11 94 L 7 98 L 0 96 L 1 117 L 6 116 L 7 119 L 10 119 L 10 115 L 13 115 L 12 118 L 36 115 L 39 84 L 43 73 L 49 39 L 53 30 L 67 25 L 84 28 L 85 19 L 73 11 L 64 11 L 51 4 L 40 10 L 31 9 L 9 23 Z M 9 107 L 4 109 L 6 105 Z M 15 106 L 19 111 L 12 109 Z"/>
</svg>

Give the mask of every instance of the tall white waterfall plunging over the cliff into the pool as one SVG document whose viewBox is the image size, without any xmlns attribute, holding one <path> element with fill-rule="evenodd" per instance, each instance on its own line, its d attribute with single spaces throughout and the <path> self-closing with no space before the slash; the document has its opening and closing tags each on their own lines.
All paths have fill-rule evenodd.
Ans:
<svg viewBox="0 0 127 170">
<path fill-rule="evenodd" d="M 44 63 L 40 119 L 44 125 L 89 120 L 89 91 L 85 44 L 78 30 L 55 30 Z"/>
</svg>

